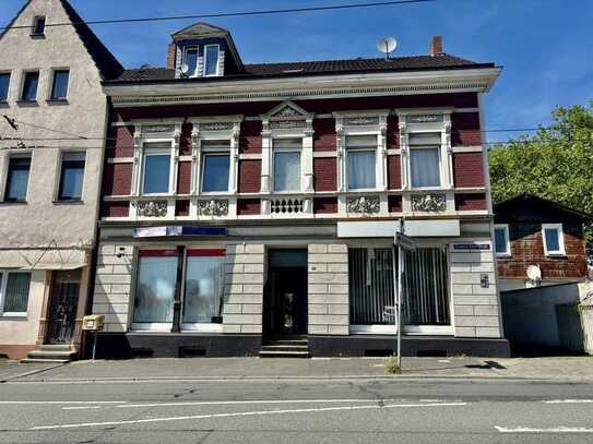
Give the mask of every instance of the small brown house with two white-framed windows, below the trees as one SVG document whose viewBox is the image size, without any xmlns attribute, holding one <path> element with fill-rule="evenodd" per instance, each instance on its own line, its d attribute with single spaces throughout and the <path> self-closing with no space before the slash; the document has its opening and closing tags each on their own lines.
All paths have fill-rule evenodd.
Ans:
<svg viewBox="0 0 593 444">
<path fill-rule="evenodd" d="M 494 207 L 501 291 L 566 284 L 589 276 L 583 224 L 593 216 L 524 193 Z M 527 268 L 532 275 L 527 276 Z"/>
</svg>

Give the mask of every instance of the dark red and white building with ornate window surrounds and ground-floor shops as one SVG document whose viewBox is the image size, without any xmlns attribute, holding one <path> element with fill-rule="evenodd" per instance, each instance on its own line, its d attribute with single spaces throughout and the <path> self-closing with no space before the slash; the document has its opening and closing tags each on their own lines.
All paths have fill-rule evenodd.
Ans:
<svg viewBox="0 0 593 444">
<path fill-rule="evenodd" d="M 286 335 L 304 355 L 389 352 L 403 217 L 420 245 L 404 351 L 508 353 L 482 139 L 499 73 L 440 38 L 427 56 L 244 64 L 199 23 L 167 68 L 105 82 L 99 355 L 257 355 Z"/>
</svg>

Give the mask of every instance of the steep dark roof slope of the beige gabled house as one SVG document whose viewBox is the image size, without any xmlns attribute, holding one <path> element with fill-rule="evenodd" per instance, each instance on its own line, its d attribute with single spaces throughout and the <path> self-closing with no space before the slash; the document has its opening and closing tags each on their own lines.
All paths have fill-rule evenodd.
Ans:
<svg viewBox="0 0 593 444">
<path fill-rule="evenodd" d="M 73 24 L 76 34 L 81 38 L 86 50 L 95 62 L 100 75 L 105 80 L 117 79 L 122 72 L 123 67 L 116 57 L 107 49 L 103 41 L 84 23 L 79 13 L 72 8 L 68 0 L 60 0 L 68 17 Z"/>
</svg>

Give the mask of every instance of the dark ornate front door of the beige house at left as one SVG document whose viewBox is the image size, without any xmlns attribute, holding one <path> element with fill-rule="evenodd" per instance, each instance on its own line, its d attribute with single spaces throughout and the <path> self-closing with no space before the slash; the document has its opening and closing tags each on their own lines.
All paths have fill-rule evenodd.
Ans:
<svg viewBox="0 0 593 444">
<path fill-rule="evenodd" d="M 70 344 L 76 324 L 80 271 L 56 272 L 49 308 L 49 344 Z"/>
</svg>

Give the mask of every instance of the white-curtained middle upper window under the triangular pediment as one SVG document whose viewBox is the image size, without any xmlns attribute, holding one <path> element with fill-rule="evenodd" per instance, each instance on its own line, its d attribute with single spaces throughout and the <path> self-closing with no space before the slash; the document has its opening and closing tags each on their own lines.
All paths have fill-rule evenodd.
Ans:
<svg viewBox="0 0 593 444">
<path fill-rule="evenodd" d="M 301 139 L 273 141 L 274 191 L 300 191 Z"/>
</svg>

